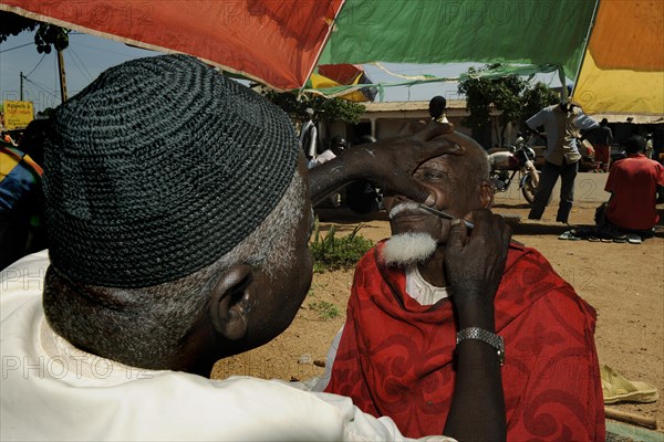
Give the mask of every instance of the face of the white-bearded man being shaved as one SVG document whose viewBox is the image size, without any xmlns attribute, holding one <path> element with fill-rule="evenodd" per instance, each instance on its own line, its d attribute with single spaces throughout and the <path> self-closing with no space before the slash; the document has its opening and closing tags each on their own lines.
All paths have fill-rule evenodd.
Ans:
<svg viewBox="0 0 664 442">
<path fill-rule="evenodd" d="M 413 177 L 435 194 L 434 207 L 456 218 L 470 220 L 469 212 L 487 208 L 492 200 L 488 182 L 477 179 L 478 161 L 485 158 L 484 149 L 468 137 L 454 134 L 461 155 L 443 155 L 422 164 Z M 390 215 L 392 234 L 406 232 L 428 233 L 438 243 L 447 241 L 449 221 L 419 207 L 401 194 L 386 191 L 385 210 Z"/>
</svg>

